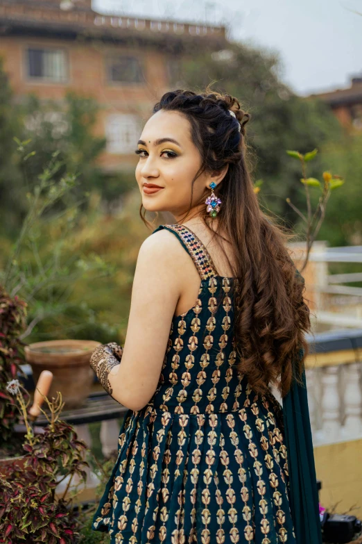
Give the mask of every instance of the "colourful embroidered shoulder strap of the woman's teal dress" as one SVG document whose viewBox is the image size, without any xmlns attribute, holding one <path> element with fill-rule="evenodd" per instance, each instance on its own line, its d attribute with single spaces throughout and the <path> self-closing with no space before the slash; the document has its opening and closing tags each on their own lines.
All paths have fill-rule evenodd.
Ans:
<svg viewBox="0 0 362 544">
<path fill-rule="evenodd" d="M 200 238 L 189 227 L 177 223 L 165 224 L 158 226 L 153 232 L 161 229 L 167 229 L 175 233 L 195 263 L 201 279 L 212 278 L 218 275 L 214 262 L 205 245 L 202 244 Z"/>
</svg>

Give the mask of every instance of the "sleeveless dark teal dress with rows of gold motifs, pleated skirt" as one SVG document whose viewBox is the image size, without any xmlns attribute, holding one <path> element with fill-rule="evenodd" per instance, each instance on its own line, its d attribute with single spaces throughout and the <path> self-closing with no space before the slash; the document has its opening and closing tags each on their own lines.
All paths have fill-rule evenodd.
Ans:
<svg viewBox="0 0 362 544">
<path fill-rule="evenodd" d="M 174 233 L 193 259 L 198 299 L 172 319 L 152 399 L 126 412 L 92 529 L 108 531 L 111 544 L 319 544 L 317 532 L 312 540 L 305 532 L 303 540 L 295 536 L 293 518 L 302 524 L 308 518 L 300 508 L 294 512 L 303 500 L 293 497 L 291 511 L 282 406 L 271 394 L 255 394 L 236 370 L 238 280 L 217 274 L 186 226 L 153 232 L 160 229 Z M 313 479 L 313 452 L 309 468 Z M 313 484 L 307 493 L 313 506 L 304 506 L 318 522 Z"/>
</svg>

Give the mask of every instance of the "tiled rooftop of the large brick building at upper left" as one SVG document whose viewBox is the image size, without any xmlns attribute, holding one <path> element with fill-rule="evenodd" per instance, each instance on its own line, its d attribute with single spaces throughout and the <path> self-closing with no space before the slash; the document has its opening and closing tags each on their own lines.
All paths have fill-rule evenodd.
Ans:
<svg viewBox="0 0 362 544">
<path fill-rule="evenodd" d="M 91 0 L 0 0 L 0 35 L 33 34 L 51 37 L 200 44 L 212 40 L 225 45 L 225 26 L 209 26 L 169 19 L 102 15 Z"/>
</svg>

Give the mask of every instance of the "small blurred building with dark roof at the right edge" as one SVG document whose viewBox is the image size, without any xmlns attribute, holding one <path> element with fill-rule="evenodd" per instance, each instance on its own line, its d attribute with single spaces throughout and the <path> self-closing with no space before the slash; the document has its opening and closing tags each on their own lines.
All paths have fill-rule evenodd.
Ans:
<svg viewBox="0 0 362 544">
<path fill-rule="evenodd" d="M 362 76 L 354 77 L 347 89 L 311 94 L 331 107 L 339 122 L 351 133 L 362 131 Z"/>
</svg>

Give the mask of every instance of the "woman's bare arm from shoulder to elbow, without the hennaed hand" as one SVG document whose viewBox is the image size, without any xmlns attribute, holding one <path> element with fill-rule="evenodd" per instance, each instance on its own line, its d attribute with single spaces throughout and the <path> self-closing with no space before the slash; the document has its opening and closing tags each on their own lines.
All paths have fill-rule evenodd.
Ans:
<svg viewBox="0 0 362 544">
<path fill-rule="evenodd" d="M 180 242 L 166 230 L 139 249 L 121 363 L 113 361 L 107 372 L 112 397 L 131 410 L 146 406 L 157 388 L 182 288 L 180 252 Z"/>
</svg>

